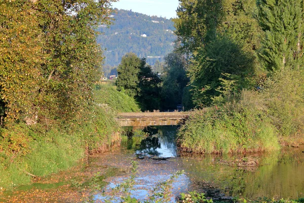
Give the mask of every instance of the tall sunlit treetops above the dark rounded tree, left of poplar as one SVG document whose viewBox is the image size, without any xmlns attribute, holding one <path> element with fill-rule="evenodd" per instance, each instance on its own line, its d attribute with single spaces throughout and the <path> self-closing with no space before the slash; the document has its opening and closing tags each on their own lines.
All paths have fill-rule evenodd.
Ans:
<svg viewBox="0 0 304 203">
<path fill-rule="evenodd" d="M 226 36 L 246 51 L 259 47 L 260 27 L 255 0 L 179 0 L 173 19 L 182 50 L 195 54 L 218 36 Z"/>
</svg>

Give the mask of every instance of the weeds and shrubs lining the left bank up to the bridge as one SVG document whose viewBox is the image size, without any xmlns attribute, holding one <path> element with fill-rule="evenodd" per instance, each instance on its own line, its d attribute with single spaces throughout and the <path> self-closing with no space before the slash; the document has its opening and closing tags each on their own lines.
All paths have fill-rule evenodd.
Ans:
<svg viewBox="0 0 304 203">
<path fill-rule="evenodd" d="M 120 128 L 115 116 L 117 112 L 139 111 L 138 106 L 113 86 L 97 85 L 94 98 L 95 105 L 70 122 L 57 120 L 49 125 L 19 122 L 1 128 L 1 187 L 9 189 L 30 183 L 32 176 L 66 170 L 87 153 L 110 148 L 115 142 L 119 144 L 120 136 L 115 136 L 115 132 Z"/>
</svg>

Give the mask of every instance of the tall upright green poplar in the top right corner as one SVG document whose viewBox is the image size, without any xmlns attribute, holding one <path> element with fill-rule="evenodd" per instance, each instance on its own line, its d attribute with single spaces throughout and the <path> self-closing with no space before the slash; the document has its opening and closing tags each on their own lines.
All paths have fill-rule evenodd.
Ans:
<svg viewBox="0 0 304 203">
<path fill-rule="evenodd" d="M 259 53 L 269 71 L 299 69 L 303 61 L 303 1 L 259 0 L 259 23 L 265 32 Z"/>
</svg>

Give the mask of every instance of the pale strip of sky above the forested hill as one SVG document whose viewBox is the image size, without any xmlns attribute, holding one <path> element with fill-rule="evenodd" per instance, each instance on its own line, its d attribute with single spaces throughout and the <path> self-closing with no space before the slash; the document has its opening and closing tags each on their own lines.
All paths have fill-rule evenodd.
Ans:
<svg viewBox="0 0 304 203">
<path fill-rule="evenodd" d="M 112 3 L 113 8 L 132 10 L 146 15 L 169 18 L 176 17 L 178 0 L 120 0 Z"/>
</svg>

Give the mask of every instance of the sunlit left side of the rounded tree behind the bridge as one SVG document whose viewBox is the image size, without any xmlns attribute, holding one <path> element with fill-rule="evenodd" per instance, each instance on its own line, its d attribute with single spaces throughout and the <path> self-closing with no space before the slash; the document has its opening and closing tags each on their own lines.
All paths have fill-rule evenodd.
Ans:
<svg viewBox="0 0 304 203">
<path fill-rule="evenodd" d="M 117 67 L 118 78 L 116 85 L 119 91 L 125 89 L 126 93 L 132 97 L 138 94 L 138 73 L 142 65 L 145 65 L 145 61 L 132 52 L 123 56 L 121 63 Z"/>
</svg>

